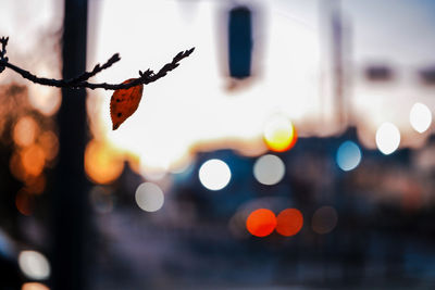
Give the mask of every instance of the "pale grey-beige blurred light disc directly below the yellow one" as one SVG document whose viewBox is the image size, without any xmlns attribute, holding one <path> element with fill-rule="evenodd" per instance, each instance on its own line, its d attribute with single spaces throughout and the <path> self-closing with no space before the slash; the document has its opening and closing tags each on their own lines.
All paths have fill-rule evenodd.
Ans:
<svg viewBox="0 0 435 290">
<path fill-rule="evenodd" d="M 284 174 L 284 162 L 278 156 L 272 154 L 259 157 L 253 165 L 253 176 L 263 185 L 276 185 L 283 179 Z"/>
</svg>

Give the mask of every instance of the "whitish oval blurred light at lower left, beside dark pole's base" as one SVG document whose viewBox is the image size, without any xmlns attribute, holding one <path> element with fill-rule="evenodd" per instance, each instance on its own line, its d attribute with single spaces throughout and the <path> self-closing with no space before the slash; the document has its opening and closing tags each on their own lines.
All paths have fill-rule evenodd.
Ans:
<svg viewBox="0 0 435 290">
<path fill-rule="evenodd" d="M 22 251 L 18 265 L 26 277 L 35 280 L 47 279 L 50 276 L 50 264 L 45 255 L 36 251 Z"/>
</svg>

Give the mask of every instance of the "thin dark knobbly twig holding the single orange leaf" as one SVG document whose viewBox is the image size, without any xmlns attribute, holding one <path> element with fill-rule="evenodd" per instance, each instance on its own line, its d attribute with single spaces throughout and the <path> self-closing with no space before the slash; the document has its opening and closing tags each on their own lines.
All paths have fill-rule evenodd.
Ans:
<svg viewBox="0 0 435 290">
<path fill-rule="evenodd" d="M 94 84 L 94 83 L 88 83 L 87 80 L 90 77 L 102 72 L 103 70 L 109 68 L 115 62 L 120 61 L 121 60 L 120 54 L 117 53 L 113 54 L 112 58 L 110 58 L 104 64 L 102 65 L 97 64 L 91 72 L 85 72 L 82 75 L 71 79 L 65 80 L 65 79 L 45 78 L 45 77 L 38 77 L 32 74 L 30 72 L 25 71 L 9 62 L 8 58 L 5 58 L 5 52 L 7 52 L 5 47 L 8 45 L 8 40 L 9 37 L 0 38 L 1 42 L 0 73 L 4 70 L 4 67 L 9 67 L 12 71 L 18 73 L 22 77 L 35 84 L 58 87 L 58 88 L 89 88 L 89 89 L 101 88 L 105 90 L 117 90 L 117 89 L 128 89 L 141 84 L 147 85 L 158 80 L 159 78 L 165 76 L 169 72 L 177 67 L 179 65 L 178 62 L 189 56 L 195 50 L 195 48 L 191 48 L 189 50 L 179 52 L 177 55 L 174 56 L 171 63 L 166 63 L 157 74 L 154 74 L 151 70 L 147 70 L 145 73 L 139 71 L 139 77 L 128 84 L 107 84 L 107 83 Z"/>
</svg>

